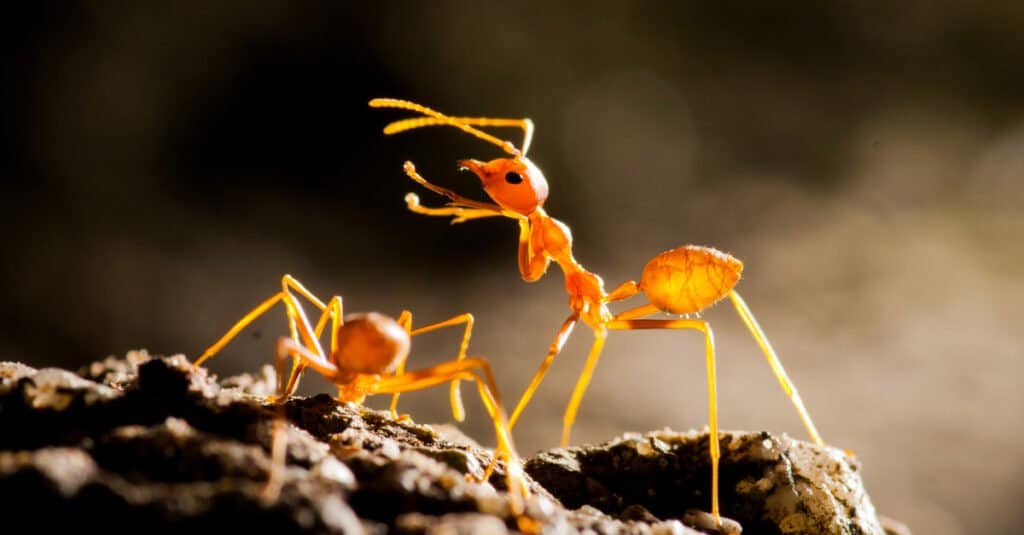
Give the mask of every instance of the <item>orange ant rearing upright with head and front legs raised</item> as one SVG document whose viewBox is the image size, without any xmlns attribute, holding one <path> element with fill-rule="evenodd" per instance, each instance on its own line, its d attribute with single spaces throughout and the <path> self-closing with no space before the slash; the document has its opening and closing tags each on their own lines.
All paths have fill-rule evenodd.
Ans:
<svg viewBox="0 0 1024 535">
<path fill-rule="evenodd" d="M 461 170 L 472 171 L 481 181 L 484 192 L 496 203 L 484 203 L 462 197 L 455 192 L 433 184 L 423 178 L 412 162 L 403 169 L 414 181 L 427 190 L 449 199 L 442 207 L 426 207 L 419 197 L 410 193 L 406 203 L 416 213 L 434 216 L 452 216 L 452 222 L 464 222 L 482 217 L 504 216 L 519 224 L 518 266 L 526 282 L 535 282 L 547 273 L 554 261 L 565 276 L 565 291 L 569 297 L 571 314 L 558 329 L 547 357 L 541 363 L 529 385 L 523 392 L 509 419 L 512 428 L 534 393 L 540 386 L 548 368 L 562 351 L 577 323 L 583 321 L 594 332 L 594 343 L 587 357 L 583 372 L 577 380 L 569 404 L 562 420 L 561 446 L 568 445 L 569 433 L 577 410 L 590 383 L 609 330 L 687 329 L 703 334 L 708 366 L 709 434 L 712 463 L 712 515 L 721 528 L 718 503 L 718 461 L 721 456 L 718 441 L 718 401 L 715 372 L 715 338 L 711 325 L 700 319 L 644 319 L 657 313 L 675 316 L 696 315 L 728 296 L 739 318 L 761 346 L 772 372 L 782 390 L 793 402 L 804 426 L 817 445 L 823 445 L 811 417 L 797 393 L 796 386 L 782 368 L 767 336 L 758 325 L 746 302 L 733 288 L 739 282 L 743 264 L 737 258 L 711 247 L 684 245 L 654 256 L 644 265 L 640 282 L 627 281 L 610 292 L 605 291 L 600 276 L 584 269 L 572 256 L 572 235 L 569 228 L 551 217 L 544 210 L 548 198 L 548 181 L 541 169 L 528 158 L 526 152 L 534 136 L 534 122 L 528 119 L 495 119 L 486 117 L 451 117 L 427 107 L 395 98 L 374 98 L 371 108 L 391 108 L 420 114 L 419 117 L 392 122 L 384 128 L 386 135 L 425 126 L 453 126 L 479 139 L 497 146 L 508 157 L 488 162 L 461 160 Z M 523 131 L 521 148 L 499 139 L 477 127 L 514 127 Z M 612 314 L 608 303 L 625 300 L 643 293 L 647 304 Z"/>
</svg>

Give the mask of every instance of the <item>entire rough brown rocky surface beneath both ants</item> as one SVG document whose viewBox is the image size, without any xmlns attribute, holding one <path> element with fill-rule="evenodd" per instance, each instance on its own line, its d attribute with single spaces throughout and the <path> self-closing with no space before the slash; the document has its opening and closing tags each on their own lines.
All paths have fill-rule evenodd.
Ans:
<svg viewBox="0 0 1024 535">
<path fill-rule="evenodd" d="M 482 476 L 488 450 L 327 395 L 284 405 L 288 467 L 263 499 L 273 384 L 268 367 L 218 381 L 144 352 L 78 373 L 0 363 L 2 531 L 693 534 L 676 519 L 707 521 L 687 510 L 709 504 L 703 434 L 538 455 L 524 523 L 501 468 L 466 478 Z M 884 533 L 842 452 L 766 434 L 722 445 L 722 509 L 743 533 Z"/>
</svg>

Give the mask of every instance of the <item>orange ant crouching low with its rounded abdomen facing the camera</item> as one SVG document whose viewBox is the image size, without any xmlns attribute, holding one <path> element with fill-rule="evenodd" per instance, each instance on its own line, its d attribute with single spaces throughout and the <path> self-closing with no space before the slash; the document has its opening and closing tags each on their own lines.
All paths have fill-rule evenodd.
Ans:
<svg viewBox="0 0 1024 535">
<path fill-rule="evenodd" d="M 321 316 L 315 326 L 309 322 L 295 294 L 306 298 L 319 310 Z M 522 517 L 522 500 L 529 497 L 529 489 L 523 476 L 521 461 L 512 443 L 508 418 L 502 406 L 490 365 L 481 358 L 466 356 L 473 328 L 471 314 L 462 314 L 417 329 L 413 329 L 413 315 L 409 311 L 402 311 L 397 319 L 374 312 L 343 316 L 341 296 L 335 295 L 325 303 L 295 278 L 285 275 L 281 280 L 281 291 L 239 320 L 219 340 L 203 352 L 203 355 L 196 360 L 195 366 L 201 366 L 211 359 L 250 323 L 279 301 L 285 304 L 291 337 L 282 336 L 278 339 L 275 359 L 278 395 L 271 397 L 269 401 L 278 404 L 279 409 L 283 409 L 282 404 L 298 388 L 299 379 L 308 367 L 338 386 L 337 399 L 340 402 L 362 403 L 368 396 L 374 394 L 392 394 L 391 415 L 399 418 L 395 407 L 400 393 L 452 381 L 453 415 L 456 420 L 462 421 L 465 418 L 465 411 L 459 392 L 459 381 L 474 381 L 480 400 L 495 424 L 497 437 L 494 459 L 479 481 L 486 481 L 498 459 L 504 459 L 507 465 L 506 483 L 510 507 L 523 527 L 529 525 L 529 521 Z M 321 344 L 321 335 L 328 321 L 331 322 L 331 345 L 330 352 L 326 353 Z M 406 371 L 406 360 L 413 336 L 459 324 L 465 324 L 466 330 L 459 346 L 459 355 L 454 361 L 422 370 Z M 288 358 L 292 359 L 292 371 L 285 380 L 285 362 Z M 274 468 L 264 490 L 264 499 L 273 499 L 278 493 L 275 474 L 285 463 L 283 440 L 280 424 L 275 424 L 271 455 Z"/>
</svg>

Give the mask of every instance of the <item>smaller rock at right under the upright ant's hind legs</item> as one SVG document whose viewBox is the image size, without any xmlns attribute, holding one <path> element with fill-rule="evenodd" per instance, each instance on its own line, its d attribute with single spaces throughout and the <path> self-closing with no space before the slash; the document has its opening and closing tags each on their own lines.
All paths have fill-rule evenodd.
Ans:
<svg viewBox="0 0 1024 535">
<path fill-rule="evenodd" d="M 707 513 L 711 492 L 708 435 L 670 430 L 626 435 L 598 446 L 556 449 L 526 471 L 566 507 L 597 507 L 616 518 L 683 519 Z M 720 434 L 723 517 L 743 533 L 885 533 L 860 481 L 858 461 L 767 433 Z"/>
</svg>

